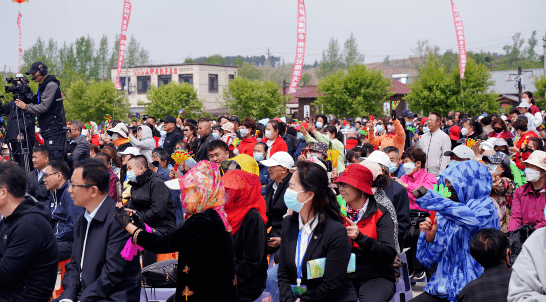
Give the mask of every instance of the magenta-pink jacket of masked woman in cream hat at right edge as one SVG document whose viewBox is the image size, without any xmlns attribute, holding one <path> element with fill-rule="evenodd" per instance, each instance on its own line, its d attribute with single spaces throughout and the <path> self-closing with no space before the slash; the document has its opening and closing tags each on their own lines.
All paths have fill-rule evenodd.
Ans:
<svg viewBox="0 0 546 302">
<path fill-rule="evenodd" d="M 546 197 L 540 193 L 535 195 L 531 186 L 531 183 L 526 183 L 515 189 L 512 197 L 512 213 L 510 213 L 510 219 L 508 220 L 508 232 L 514 231 L 525 224 L 535 228 L 546 226 L 544 220 Z"/>
</svg>

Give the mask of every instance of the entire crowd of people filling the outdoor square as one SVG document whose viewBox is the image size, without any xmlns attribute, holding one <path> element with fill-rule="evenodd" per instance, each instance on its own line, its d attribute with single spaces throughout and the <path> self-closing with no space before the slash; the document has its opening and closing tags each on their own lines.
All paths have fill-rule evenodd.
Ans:
<svg viewBox="0 0 546 302">
<path fill-rule="evenodd" d="M 32 171 L 1 146 L 0 300 L 49 301 L 68 261 L 56 301 L 136 301 L 163 253 L 174 301 L 387 302 L 402 253 L 413 302 L 544 300 L 545 120 L 530 92 L 478 117 L 70 120 L 61 151 L 41 117 Z"/>
</svg>

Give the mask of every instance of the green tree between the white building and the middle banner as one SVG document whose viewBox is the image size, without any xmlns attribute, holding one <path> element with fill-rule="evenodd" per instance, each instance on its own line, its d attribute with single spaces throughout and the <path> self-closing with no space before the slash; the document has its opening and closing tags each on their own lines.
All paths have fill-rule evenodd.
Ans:
<svg viewBox="0 0 546 302">
<path fill-rule="evenodd" d="M 228 82 L 221 97 L 223 106 L 227 106 L 230 113 L 257 119 L 282 116 L 284 102 L 288 101 L 275 82 L 252 81 L 241 76 Z"/>
</svg>

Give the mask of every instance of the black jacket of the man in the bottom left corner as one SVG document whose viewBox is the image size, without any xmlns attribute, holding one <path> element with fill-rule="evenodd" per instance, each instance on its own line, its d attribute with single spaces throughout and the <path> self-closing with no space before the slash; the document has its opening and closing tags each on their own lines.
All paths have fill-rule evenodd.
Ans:
<svg viewBox="0 0 546 302">
<path fill-rule="evenodd" d="M 0 288 L 28 301 L 49 301 L 57 279 L 57 240 L 47 212 L 26 198 L 0 221 Z"/>
</svg>

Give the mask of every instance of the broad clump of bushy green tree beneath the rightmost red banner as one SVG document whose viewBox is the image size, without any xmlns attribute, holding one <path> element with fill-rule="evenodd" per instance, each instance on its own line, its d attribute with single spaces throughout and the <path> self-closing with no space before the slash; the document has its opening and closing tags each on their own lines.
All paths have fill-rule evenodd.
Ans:
<svg viewBox="0 0 546 302">
<path fill-rule="evenodd" d="M 425 114 L 437 111 L 446 115 L 450 110 L 472 115 L 479 114 L 481 110 L 498 112 L 500 106 L 496 101 L 497 96 L 488 93 L 492 85 L 490 77 L 484 65 L 468 60 L 461 94 L 459 66 L 448 73 L 447 68 L 430 52 L 419 69 L 419 77 L 410 84 L 411 92 L 403 99 L 408 102 L 411 110 L 422 110 Z"/>
</svg>

